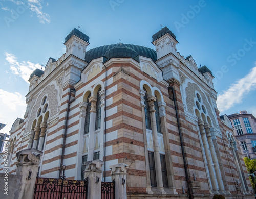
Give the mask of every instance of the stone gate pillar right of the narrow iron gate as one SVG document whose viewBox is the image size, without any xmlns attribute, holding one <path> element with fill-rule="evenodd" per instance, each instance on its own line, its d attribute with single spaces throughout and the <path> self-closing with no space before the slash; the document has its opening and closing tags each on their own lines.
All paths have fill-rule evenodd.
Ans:
<svg viewBox="0 0 256 199">
<path fill-rule="evenodd" d="M 115 179 L 116 199 L 126 199 L 127 165 L 124 163 L 111 165 L 111 180 Z"/>
</svg>

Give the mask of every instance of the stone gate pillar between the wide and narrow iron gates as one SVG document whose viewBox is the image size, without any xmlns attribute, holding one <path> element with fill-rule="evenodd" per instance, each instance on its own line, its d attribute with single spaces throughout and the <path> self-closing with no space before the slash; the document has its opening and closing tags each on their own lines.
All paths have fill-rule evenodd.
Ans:
<svg viewBox="0 0 256 199">
<path fill-rule="evenodd" d="M 101 198 L 101 175 L 102 166 L 104 165 L 101 160 L 92 160 L 85 163 L 86 170 L 84 171 L 84 177 L 88 178 L 88 199 L 100 199 Z"/>
</svg>

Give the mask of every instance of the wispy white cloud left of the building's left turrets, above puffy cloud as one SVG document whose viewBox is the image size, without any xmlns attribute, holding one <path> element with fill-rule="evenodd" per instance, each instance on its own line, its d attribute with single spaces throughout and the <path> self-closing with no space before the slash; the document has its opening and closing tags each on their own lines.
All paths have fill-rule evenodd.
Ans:
<svg viewBox="0 0 256 199">
<path fill-rule="evenodd" d="M 18 62 L 17 57 L 11 53 L 5 53 L 6 61 L 10 64 L 10 69 L 14 74 L 22 77 L 26 82 L 29 82 L 30 74 L 36 69 L 40 69 L 40 64 L 33 64 L 30 61 Z"/>
</svg>

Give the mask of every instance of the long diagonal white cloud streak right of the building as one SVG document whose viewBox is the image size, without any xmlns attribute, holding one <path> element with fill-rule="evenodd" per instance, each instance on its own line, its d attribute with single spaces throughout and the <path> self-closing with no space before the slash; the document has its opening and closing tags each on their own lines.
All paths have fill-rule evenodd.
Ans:
<svg viewBox="0 0 256 199">
<path fill-rule="evenodd" d="M 256 90 L 256 67 L 218 96 L 217 106 L 220 112 L 241 103 L 243 98 L 254 90 Z"/>
</svg>

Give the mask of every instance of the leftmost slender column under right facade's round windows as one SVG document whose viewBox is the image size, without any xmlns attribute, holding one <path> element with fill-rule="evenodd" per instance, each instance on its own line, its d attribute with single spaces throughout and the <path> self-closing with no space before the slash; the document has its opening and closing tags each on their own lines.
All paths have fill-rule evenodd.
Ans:
<svg viewBox="0 0 256 199">
<path fill-rule="evenodd" d="M 212 161 L 211 161 L 211 156 L 208 150 L 208 146 L 207 146 L 207 140 L 206 140 L 206 136 L 205 136 L 205 130 L 204 130 L 204 122 L 203 120 L 199 120 L 198 121 L 198 126 L 199 126 L 199 130 L 200 130 L 200 134 L 201 134 L 201 138 L 203 141 L 203 145 L 204 145 L 204 151 L 205 151 L 205 156 L 208 162 L 208 169 L 210 172 L 210 179 L 211 179 L 211 184 L 212 184 L 212 189 L 214 189 L 214 191 L 218 192 L 218 186 L 215 180 L 215 175 L 214 175 L 214 168 L 212 168 Z"/>
</svg>

